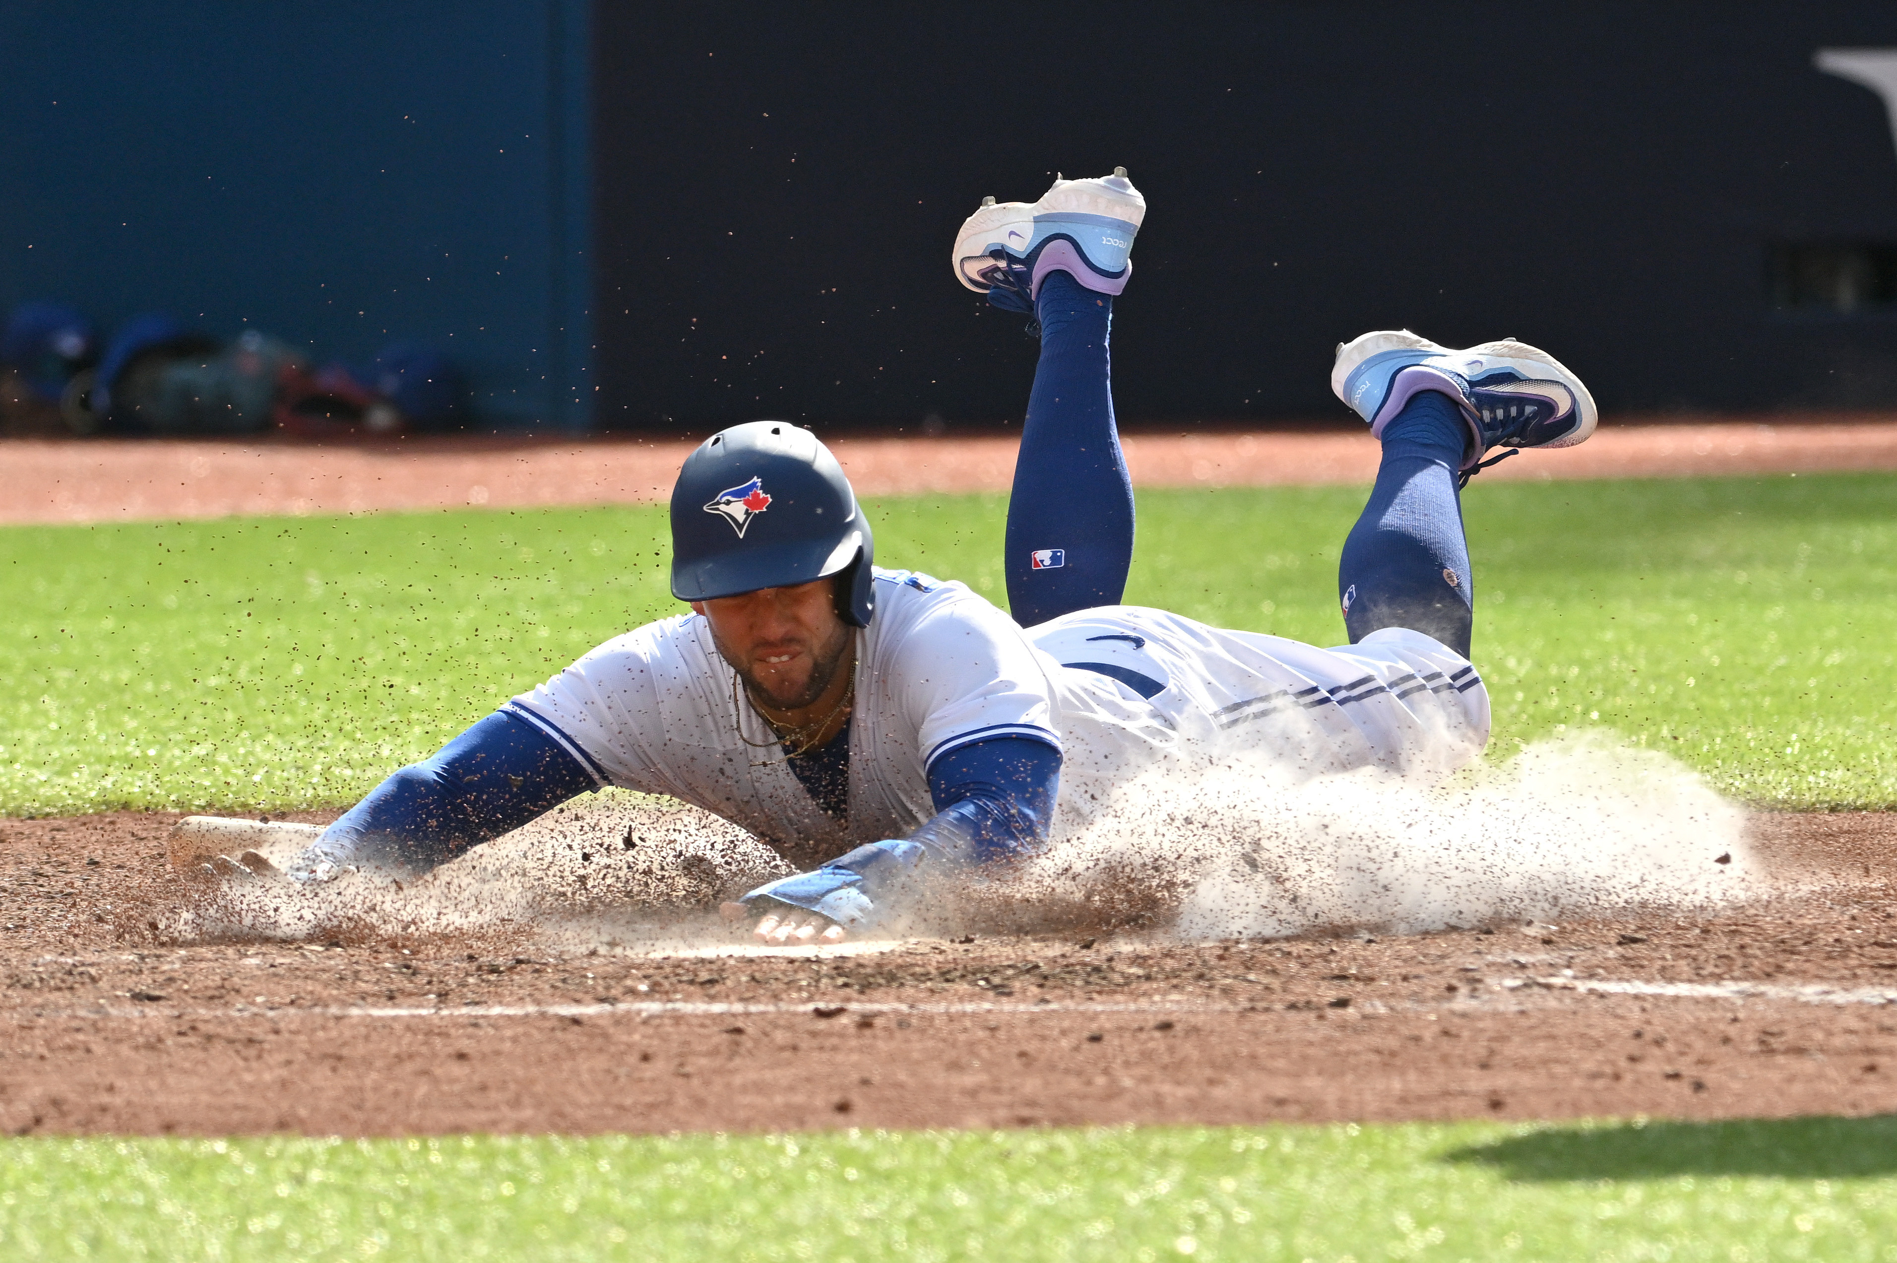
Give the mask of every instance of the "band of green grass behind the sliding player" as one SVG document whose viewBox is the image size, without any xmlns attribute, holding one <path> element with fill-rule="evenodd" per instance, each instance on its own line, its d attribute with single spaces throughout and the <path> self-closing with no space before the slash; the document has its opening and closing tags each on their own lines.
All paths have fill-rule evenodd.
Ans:
<svg viewBox="0 0 1897 1263">
<path fill-rule="evenodd" d="M 1493 751 L 1605 726 L 1796 808 L 1897 806 L 1897 482 L 1466 497 Z M 1353 487 L 1140 495 L 1129 601 L 1337 643 Z M 878 558 L 1004 601 L 1002 497 L 871 504 Z M 658 508 L 0 529 L 0 812 L 353 800 L 672 613 Z"/>
</svg>

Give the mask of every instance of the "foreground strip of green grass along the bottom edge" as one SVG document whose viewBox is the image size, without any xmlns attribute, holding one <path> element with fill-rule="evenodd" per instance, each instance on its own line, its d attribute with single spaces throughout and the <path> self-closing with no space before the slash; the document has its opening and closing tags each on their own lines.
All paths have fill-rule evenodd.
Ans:
<svg viewBox="0 0 1897 1263">
<path fill-rule="evenodd" d="M 1897 1259 L 1897 1121 L 11 1140 L 17 1259 Z"/>
</svg>

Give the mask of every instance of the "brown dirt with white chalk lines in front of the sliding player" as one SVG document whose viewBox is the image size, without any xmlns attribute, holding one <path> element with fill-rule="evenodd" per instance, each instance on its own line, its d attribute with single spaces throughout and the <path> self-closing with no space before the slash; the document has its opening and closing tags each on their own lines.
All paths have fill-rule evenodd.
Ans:
<svg viewBox="0 0 1897 1263">
<path fill-rule="evenodd" d="M 321 817 L 309 817 L 321 819 Z M 653 958 L 154 931 L 173 817 L 0 823 L 11 1132 L 751 1130 L 1897 1109 L 1897 815 L 1762 815 L 1709 918 Z M 711 924 L 711 914 L 702 914 Z"/>
</svg>

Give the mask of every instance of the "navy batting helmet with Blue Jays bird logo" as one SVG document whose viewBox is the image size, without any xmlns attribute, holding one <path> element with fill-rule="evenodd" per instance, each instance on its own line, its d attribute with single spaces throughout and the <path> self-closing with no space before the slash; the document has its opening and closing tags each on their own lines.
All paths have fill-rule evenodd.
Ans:
<svg viewBox="0 0 1897 1263">
<path fill-rule="evenodd" d="M 837 578 L 837 613 L 867 628 L 875 540 L 842 467 L 789 421 L 719 430 L 672 487 L 672 595 L 721 595 Z"/>
</svg>

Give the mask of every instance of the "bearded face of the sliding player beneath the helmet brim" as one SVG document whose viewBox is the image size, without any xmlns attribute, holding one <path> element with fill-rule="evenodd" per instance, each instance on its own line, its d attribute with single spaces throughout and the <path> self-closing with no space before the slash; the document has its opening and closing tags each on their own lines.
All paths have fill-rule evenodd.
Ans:
<svg viewBox="0 0 1897 1263">
<path fill-rule="evenodd" d="M 780 711 L 801 711 L 837 683 L 850 628 L 837 614 L 835 580 L 761 588 L 734 597 L 692 601 L 711 624 L 725 662 L 751 696 Z"/>
</svg>

